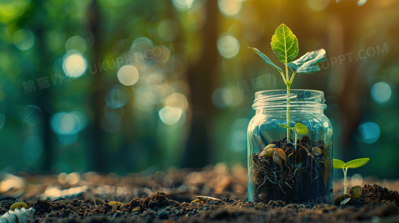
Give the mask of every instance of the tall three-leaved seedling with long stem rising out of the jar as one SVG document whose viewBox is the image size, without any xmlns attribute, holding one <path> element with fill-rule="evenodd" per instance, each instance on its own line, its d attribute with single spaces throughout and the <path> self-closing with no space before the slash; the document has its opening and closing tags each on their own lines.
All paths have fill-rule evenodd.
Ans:
<svg viewBox="0 0 399 223">
<path fill-rule="evenodd" d="M 287 86 L 287 94 L 290 93 L 291 85 L 294 81 L 294 77 L 296 73 L 313 73 L 319 71 L 321 66 L 325 62 L 325 50 L 319 49 L 318 51 L 308 52 L 298 60 L 292 62 L 294 58 L 298 56 L 298 39 L 293 34 L 293 32 L 285 26 L 285 24 L 281 24 L 275 31 L 275 34 L 272 37 L 272 50 L 280 62 L 285 64 L 285 74 L 284 71 L 275 65 L 266 55 L 261 53 L 257 48 L 248 47 L 252 49 L 256 54 L 258 54 L 265 63 L 271 65 L 275 69 L 277 69 L 281 77 L 284 80 L 285 85 Z M 292 75 L 289 77 L 289 70 L 291 69 Z M 287 127 L 290 127 L 290 107 L 288 105 L 290 103 L 290 99 L 287 99 Z M 290 139 L 290 129 L 287 128 L 287 141 Z"/>
</svg>

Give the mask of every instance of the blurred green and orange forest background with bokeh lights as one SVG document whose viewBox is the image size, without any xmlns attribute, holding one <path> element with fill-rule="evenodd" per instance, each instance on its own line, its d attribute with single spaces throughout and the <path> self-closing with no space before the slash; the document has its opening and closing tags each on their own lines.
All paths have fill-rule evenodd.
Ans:
<svg viewBox="0 0 399 223">
<path fill-rule="evenodd" d="M 254 93 L 285 88 L 247 47 L 277 64 L 285 23 L 299 55 L 327 52 L 292 89 L 325 92 L 334 158 L 371 158 L 349 176 L 398 178 L 398 12 L 395 0 L 2 0 L 0 170 L 246 166 Z"/>
</svg>

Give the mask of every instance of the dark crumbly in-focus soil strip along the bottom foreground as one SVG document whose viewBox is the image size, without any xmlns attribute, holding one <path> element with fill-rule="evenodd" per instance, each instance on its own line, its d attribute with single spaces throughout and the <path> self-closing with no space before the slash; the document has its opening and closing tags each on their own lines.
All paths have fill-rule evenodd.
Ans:
<svg viewBox="0 0 399 223">
<path fill-rule="evenodd" d="M 9 209 L 12 200 L 0 202 Z M 92 201 L 28 203 L 36 209 L 30 222 L 372 222 L 399 221 L 399 194 L 379 185 L 364 185 L 363 194 L 345 206 L 333 204 L 286 204 L 282 201 L 254 203 L 229 198 L 210 203 L 179 203 L 165 193 L 134 198 L 125 205 L 94 205 Z M 3 213 L 2 213 L 3 214 Z"/>
</svg>

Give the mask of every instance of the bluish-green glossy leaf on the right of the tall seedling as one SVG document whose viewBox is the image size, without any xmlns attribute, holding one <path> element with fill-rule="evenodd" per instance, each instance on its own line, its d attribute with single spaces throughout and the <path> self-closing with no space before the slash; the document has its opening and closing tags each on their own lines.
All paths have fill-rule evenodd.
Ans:
<svg viewBox="0 0 399 223">
<path fill-rule="evenodd" d="M 298 60 L 288 63 L 294 72 L 297 73 L 314 73 L 321 69 L 325 62 L 325 50 L 319 49 L 318 51 L 308 52 Z"/>
</svg>

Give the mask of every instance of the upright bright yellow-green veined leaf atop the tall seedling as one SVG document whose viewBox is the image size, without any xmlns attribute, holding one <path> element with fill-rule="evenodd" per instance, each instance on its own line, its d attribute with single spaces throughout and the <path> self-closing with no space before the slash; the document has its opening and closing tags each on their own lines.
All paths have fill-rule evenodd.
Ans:
<svg viewBox="0 0 399 223">
<path fill-rule="evenodd" d="M 283 63 L 290 63 L 298 56 L 298 39 L 290 28 L 281 24 L 272 36 L 272 49 L 274 54 Z"/>
</svg>

